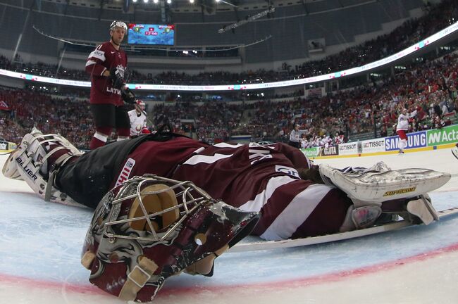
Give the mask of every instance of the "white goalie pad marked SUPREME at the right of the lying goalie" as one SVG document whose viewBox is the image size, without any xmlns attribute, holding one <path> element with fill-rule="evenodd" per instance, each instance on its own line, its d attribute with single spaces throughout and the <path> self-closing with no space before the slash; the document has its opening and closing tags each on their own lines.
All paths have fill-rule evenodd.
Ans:
<svg viewBox="0 0 458 304">
<path fill-rule="evenodd" d="M 326 183 L 338 187 L 349 198 L 373 203 L 426 194 L 447 183 L 451 177 L 450 173 L 416 168 L 344 173 L 321 164 L 319 170 Z"/>
</svg>

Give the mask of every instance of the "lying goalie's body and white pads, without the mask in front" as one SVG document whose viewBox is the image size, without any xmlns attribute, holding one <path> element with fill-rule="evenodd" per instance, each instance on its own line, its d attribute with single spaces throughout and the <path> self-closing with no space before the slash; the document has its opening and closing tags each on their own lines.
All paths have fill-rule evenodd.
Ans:
<svg viewBox="0 0 458 304">
<path fill-rule="evenodd" d="M 386 214 L 429 224 L 437 215 L 426 194 L 450 179 L 448 173 L 390 170 L 383 163 L 344 172 L 311 165 L 286 144 L 209 145 L 169 132 L 82 154 L 63 137 L 37 129 L 25 135 L 3 172 L 24 179 L 43 198 L 89 208 L 134 176 L 191 181 L 212 198 L 261 213 L 253 234 L 268 240 L 365 228 Z"/>
</svg>

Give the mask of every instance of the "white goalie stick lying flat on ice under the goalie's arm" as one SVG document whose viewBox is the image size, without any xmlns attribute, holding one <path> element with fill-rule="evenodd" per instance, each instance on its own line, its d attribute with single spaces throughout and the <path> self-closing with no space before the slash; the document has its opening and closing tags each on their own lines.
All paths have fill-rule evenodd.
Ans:
<svg viewBox="0 0 458 304">
<path fill-rule="evenodd" d="M 445 209 L 438 211 L 439 218 L 447 217 L 449 215 L 457 215 L 458 207 Z M 246 251 L 261 251 L 261 250 L 271 250 L 278 248 L 289 248 L 289 247 L 299 247 L 299 246 L 308 246 L 315 245 L 319 243 L 328 243 L 332 241 L 342 241 L 346 239 L 354 239 L 359 236 L 368 236 L 371 234 L 378 234 L 381 232 L 389 232 L 392 230 L 401 229 L 404 227 L 414 226 L 411 222 L 406 220 L 400 220 L 397 222 L 390 222 L 388 224 L 382 224 L 380 226 L 370 227 L 366 229 L 353 230 L 351 232 L 342 232 L 338 234 L 328 234 L 324 236 L 310 236 L 303 239 L 286 239 L 280 241 L 256 241 L 249 243 L 237 243 L 235 246 L 229 249 L 228 252 L 246 252 Z"/>
</svg>

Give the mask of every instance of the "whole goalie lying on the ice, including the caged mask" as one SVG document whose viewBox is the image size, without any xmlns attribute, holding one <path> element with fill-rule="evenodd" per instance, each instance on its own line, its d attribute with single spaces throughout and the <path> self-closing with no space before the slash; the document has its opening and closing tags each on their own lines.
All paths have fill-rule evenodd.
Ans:
<svg viewBox="0 0 458 304">
<path fill-rule="evenodd" d="M 366 170 L 318 167 L 286 144 L 209 145 L 169 132 L 82 154 L 37 129 L 3 173 L 45 200 L 96 209 L 82 254 L 90 281 L 140 301 L 183 270 L 211 276 L 214 258 L 251 231 L 268 240 L 301 238 L 397 215 L 429 224 L 438 216 L 426 193 L 450 179 L 383 163 Z"/>
</svg>

